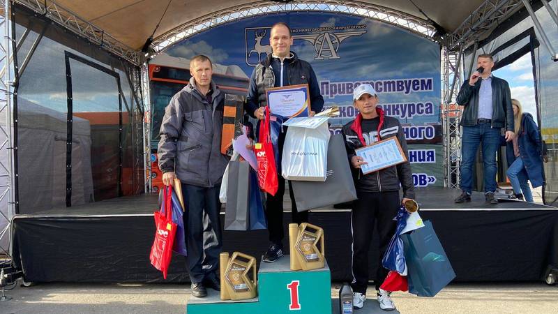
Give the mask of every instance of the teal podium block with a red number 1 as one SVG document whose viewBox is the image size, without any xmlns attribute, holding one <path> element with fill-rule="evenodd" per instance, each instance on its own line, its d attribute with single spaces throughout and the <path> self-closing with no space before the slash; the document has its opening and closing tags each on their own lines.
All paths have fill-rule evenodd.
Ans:
<svg viewBox="0 0 558 314">
<path fill-rule="evenodd" d="M 331 275 L 324 268 L 292 271 L 289 255 L 259 264 L 259 313 L 331 314 Z"/>
</svg>

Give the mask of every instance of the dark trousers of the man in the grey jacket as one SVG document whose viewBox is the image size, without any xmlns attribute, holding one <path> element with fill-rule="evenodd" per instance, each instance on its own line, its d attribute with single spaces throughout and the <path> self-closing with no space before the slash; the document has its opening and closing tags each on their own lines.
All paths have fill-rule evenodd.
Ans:
<svg viewBox="0 0 558 314">
<path fill-rule="evenodd" d="M 200 188 L 182 184 L 182 194 L 187 215 L 183 216 L 186 227 L 186 267 L 190 281 L 199 283 L 204 278 L 216 276 L 219 269 L 219 253 L 223 246 L 223 232 L 219 211 L 220 185 Z"/>
</svg>

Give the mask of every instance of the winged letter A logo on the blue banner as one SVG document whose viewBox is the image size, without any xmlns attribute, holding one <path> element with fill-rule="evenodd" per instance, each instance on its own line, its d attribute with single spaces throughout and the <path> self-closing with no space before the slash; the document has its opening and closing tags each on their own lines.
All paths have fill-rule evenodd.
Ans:
<svg viewBox="0 0 558 314">
<path fill-rule="evenodd" d="M 314 46 L 316 57 L 314 60 L 327 60 L 327 59 L 341 59 L 337 54 L 339 46 L 342 41 L 352 37 L 361 36 L 366 31 L 344 31 L 344 32 L 329 32 L 324 33 L 310 33 L 307 35 L 294 35 L 294 39 L 302 39 L 308 41 Z"/>
</svg>

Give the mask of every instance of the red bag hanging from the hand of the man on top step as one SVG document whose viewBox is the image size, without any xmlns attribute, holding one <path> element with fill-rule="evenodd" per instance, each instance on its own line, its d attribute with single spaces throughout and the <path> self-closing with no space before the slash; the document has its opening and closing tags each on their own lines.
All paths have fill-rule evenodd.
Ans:
<svg viewBox="0 0 558 314">
<path fill-rule="evenodd" d="M 273 144 L 269 135 L 269 107 L 266 106 L 266 117 L 259 128 L 259 142 L 254 145 L 257 160 L 257 179 L 259 188 L 275 195 L 279 187 L 277 168 L 273 154 Z"/>
</svg>

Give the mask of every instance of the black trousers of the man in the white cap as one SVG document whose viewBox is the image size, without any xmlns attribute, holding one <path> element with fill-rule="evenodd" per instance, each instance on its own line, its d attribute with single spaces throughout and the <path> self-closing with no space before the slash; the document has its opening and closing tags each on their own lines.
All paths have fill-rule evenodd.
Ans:
<svg viewBox="0 0 558 314">
<path fill-rule="evenodd" d="M 358 200 L 354 201 L 352 226 L 352 289 L 353 292 L 364 294 L 368 287 L 368 251 L 372 240 L 372 232 L 376 223 L 379 234 L 379 267 L 376 272 L 376 290 L 384 282 L 388 270 L 382 267 L 382 257 L 389 241 L 395 233 L 397 223 L 393 218 L 397 215 L 401 200 L 399 191 L 362 192 L 357 190 Z"/>
</svg>

